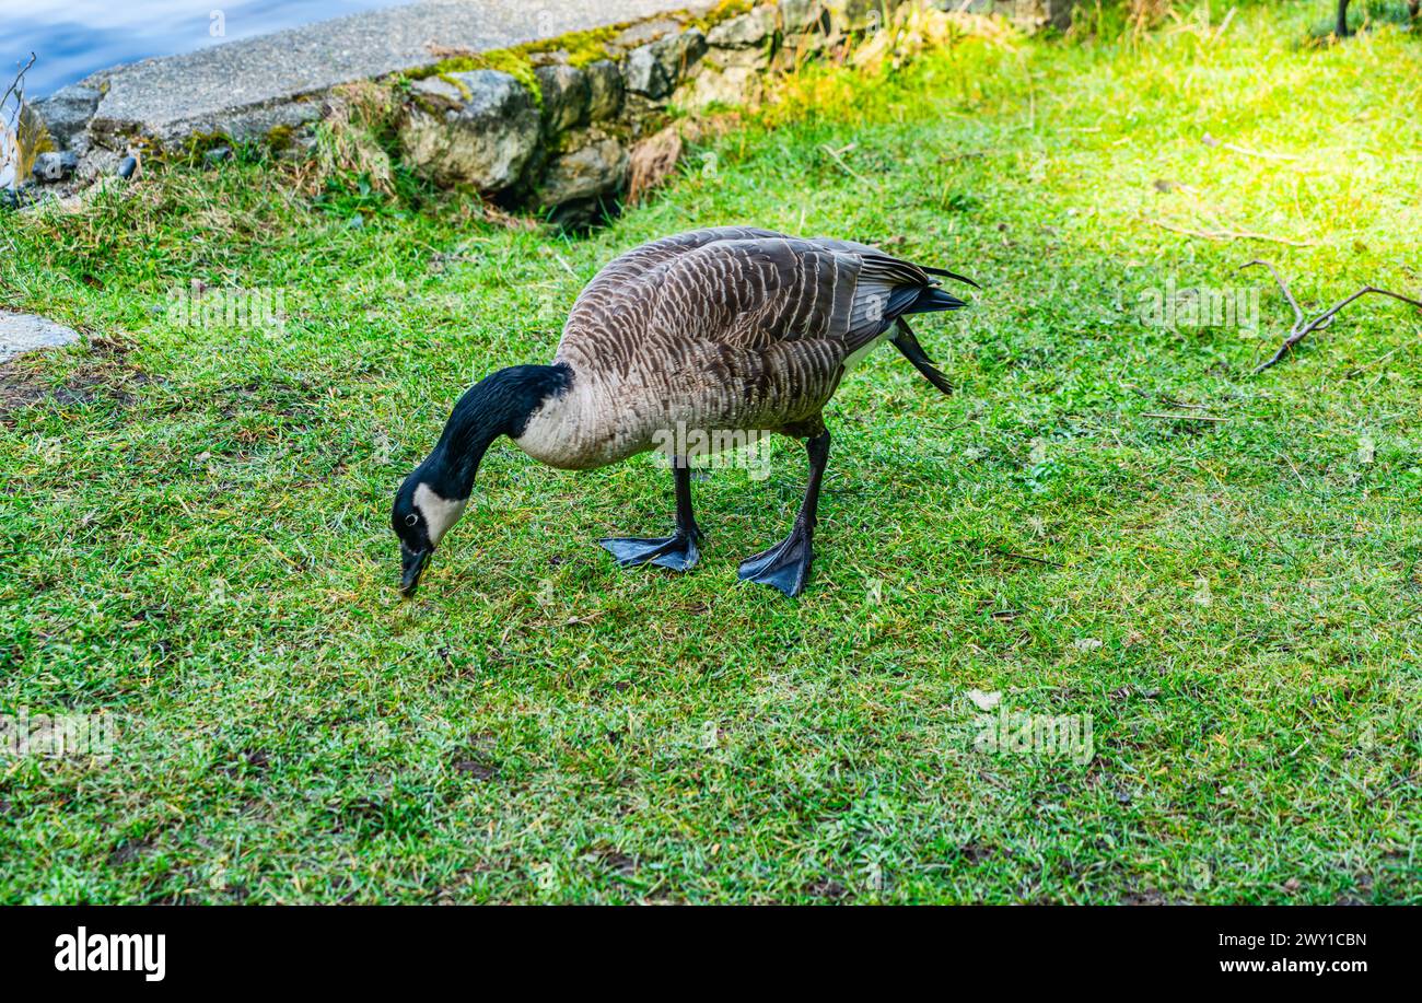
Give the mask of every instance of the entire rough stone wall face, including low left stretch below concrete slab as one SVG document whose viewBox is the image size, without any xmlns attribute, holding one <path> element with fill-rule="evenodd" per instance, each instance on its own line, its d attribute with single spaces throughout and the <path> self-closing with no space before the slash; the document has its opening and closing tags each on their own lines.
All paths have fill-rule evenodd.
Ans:
<svg viewBox="0 0 1422 1003">
<path fill-rule="evenodd" d="M 401 155 L 417 172 L 441 186 L 472 188 L 580 226 L 623 196 L 630 182 L 656 184 L 675 162 L 675 114 L 755 104 L 768 80 L 808 60 L 866 50 L 897 55 L 947 37 L 963 17 L 1003 14 L 1025 30 L 1062 27 L 1075 1 L 708 0 L 512 48 L 437 53 L 381 80 L 400 95 Z M 112 102 L 101 104 L 105 78 L 98 74 L 38 105 L 61 148 L 78 155 L 64 176 L 41 179 L 58 182 L 57 193 L 118 169 L 131 154 L 192 144 L 195 137 L 209 145 L 215 134 L 260 138 L 276 124 L 283 141 L 293 131 L 297 139 L 309 138 L 324 98 L 294 92 L 283 101 L 201 115 L 183 110 L 149 122 L 121 120 L 108 108 Z"/>
</svg>

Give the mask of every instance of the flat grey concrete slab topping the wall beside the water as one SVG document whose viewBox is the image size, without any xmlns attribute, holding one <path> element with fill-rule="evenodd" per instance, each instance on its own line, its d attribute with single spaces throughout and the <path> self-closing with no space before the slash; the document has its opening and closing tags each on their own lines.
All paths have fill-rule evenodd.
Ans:
<svg viewBox="0 0 1422 1003">
<path fill-rule="evenodd" d="M 337 84 L 438 61 L 432 48 L 489 51 L 712 0 L 421 0 L 183 55 L 105 70 L 92 131 L 168 138 L 292 121 L 293 102 Z M 313 110 L 314 114 L 314 110 Z M 299 114 L 296 115 L 300 117 Z"/>
</svg>

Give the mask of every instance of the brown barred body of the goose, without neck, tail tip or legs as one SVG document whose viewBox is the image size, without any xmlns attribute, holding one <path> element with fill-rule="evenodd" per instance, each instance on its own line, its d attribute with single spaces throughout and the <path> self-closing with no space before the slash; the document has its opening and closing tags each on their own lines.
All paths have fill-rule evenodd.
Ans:
<svg viewBox="0 0 1422 1003">
<path fill-rule="evenodd" d="M 637 248 L 589 283 L 559 343 L 577 434 L 596 462 L 678 423 L 801 434 L 855 353 L 934 285 L 866 245 L 749 228 Z"/>
</svg>

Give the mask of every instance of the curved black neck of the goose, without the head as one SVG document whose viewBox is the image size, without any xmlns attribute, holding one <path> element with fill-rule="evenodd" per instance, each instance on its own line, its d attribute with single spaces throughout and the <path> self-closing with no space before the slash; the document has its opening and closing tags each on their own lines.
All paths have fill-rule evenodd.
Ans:
<svg viewBox="0 0 1422 1003">
<path fill-rule="evenodd" d="M 559 363 L 510 366 L 469 387 L 454 405 L 439 444 L 425 461 L 431 487 L 442 488 L 445 498 L 468 498 L 479 461 L 493 440 L 522 435 L 539 405 L 566 393 L 572 381 L 572 370 Z"/>
</svg>

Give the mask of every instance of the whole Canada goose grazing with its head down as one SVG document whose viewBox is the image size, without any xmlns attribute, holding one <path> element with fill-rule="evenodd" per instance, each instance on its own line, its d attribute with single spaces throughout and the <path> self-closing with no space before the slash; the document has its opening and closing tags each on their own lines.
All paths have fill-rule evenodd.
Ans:
<svg viewBox="0 0 1422 1003">
<path fill-rule="evenodd" d="M 668 448 L 668 432 L 698 430 L 701 441 L 725 442 L 765 430 L 806 440 L 809 484 L 789 536 L 742 561 L 739 576 L 799 595 L 829 458 L 820 410 L 840 378 L 897 329 L 894 347 L 951 391 L 903 320 L 964 306 L 930 273 L 977 285 L 863 243 L 751 228 L 678 233 L 621 255 L 577 297 L 553 363 L 503 368 L 466 390 L 434 452 L 405 478 L 391 515 L 401 592 L 414 593 L 499 435 L 562 469 L 667 448 L 673 534 L 600 543 L 623 566 L 685 571 L 697 562 L 701 529 L 691 514 L 688 451 Z"/>
</svg>

